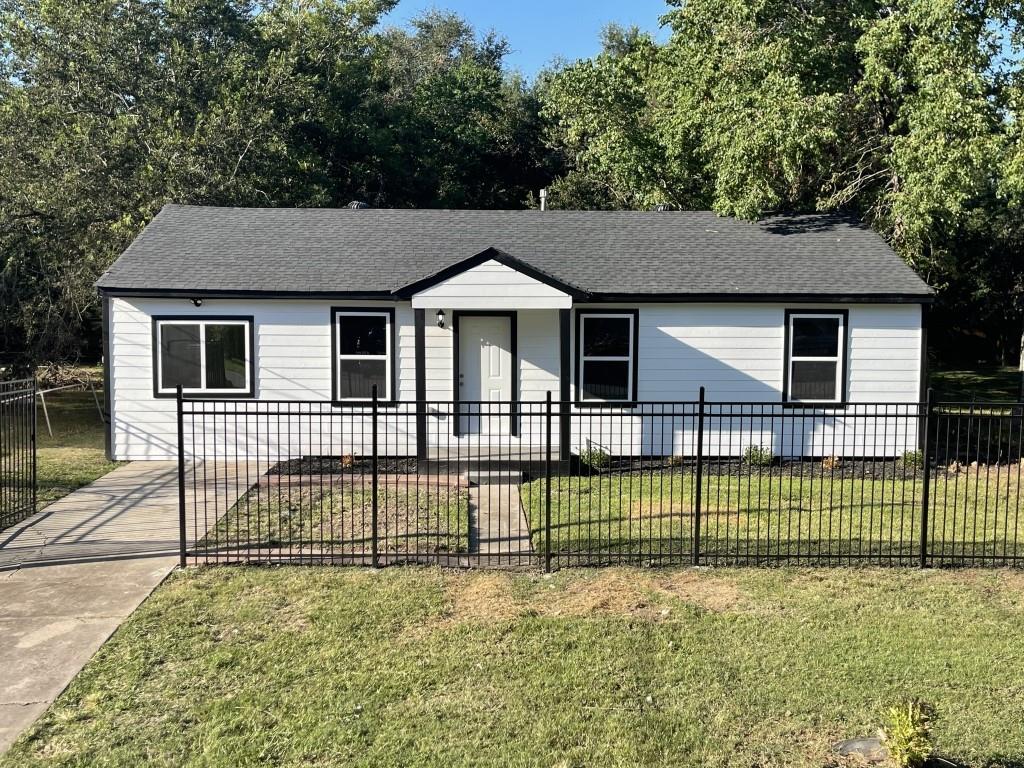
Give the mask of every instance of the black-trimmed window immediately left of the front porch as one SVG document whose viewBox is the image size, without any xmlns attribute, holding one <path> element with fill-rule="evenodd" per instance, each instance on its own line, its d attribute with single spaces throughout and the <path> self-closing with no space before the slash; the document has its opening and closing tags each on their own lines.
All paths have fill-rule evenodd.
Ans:
<svg viewBox="0 0 1024 768">
<path fill-rule="evenodd" d="M 337 400 L 392 399 L 394 370 L 392 326 L 388 309 L 335 309 L 335 392 Z"/>
</svg>

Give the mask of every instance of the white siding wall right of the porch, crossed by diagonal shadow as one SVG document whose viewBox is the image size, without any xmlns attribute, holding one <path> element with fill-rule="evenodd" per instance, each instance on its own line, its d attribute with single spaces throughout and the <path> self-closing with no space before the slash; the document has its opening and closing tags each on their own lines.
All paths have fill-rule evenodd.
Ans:
<svg viewBox="0 0 1024 768">
<path fill-rule="evenodd" d="M 594 308 L 635 308 L 594 305 Z M 578 306 L 586 310 L 587 306 Z M 641 400 L 695 400 L 700 386 L 711 401 L 779 402 L 782 394 L 786 304 L 641 304 Z M 921 307 L 908 304 L 815 304 L 849 312 L 847 386 L 851 402 L 906 403 L 921 395 Z M 573 324 L 573 361 L 575 324 Z M 573 364 L 574 367 L 574 364 Z M 574 377 L 574 371 L 573 371 Z M 573 382 L 574 383 L 574 382 Z M 583 413 L 587 413 L 584 411 Z M 776 414 L 782 410 L 775 409 Z M 852 410 L 848 413 L 852 413 Z M 761 445 L 776 455 L 894 456 L 916 446 L 910 419 L 718 420 L 706 424 L 710 455 Z M 613 454 L 695 453 L 692 419 L 590 416 L 573 419 L 572 449 L 601 446 Z"/>
</svg>

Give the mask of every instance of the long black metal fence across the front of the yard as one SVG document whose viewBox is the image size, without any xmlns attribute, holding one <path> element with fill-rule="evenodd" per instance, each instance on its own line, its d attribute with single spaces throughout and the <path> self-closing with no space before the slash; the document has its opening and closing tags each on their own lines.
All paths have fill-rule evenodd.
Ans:
<svg viewBox="0 0 1024 768">
<path fill-rule="evenodd" d="M 179 398 L 181 558 L 1020 565 L 1022 414 Z"/>
</svg>

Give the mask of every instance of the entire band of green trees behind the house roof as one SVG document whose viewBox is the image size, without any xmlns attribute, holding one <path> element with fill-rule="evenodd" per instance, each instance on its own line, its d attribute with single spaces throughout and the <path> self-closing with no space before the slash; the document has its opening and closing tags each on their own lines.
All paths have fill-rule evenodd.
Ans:
<svg viewBox="0 0 1024 768">
<path fill-rule="evenodd" d="M 167 202 L 851 210 L 939 291 L 940 351 L 1024 324 L 1021 0 L 670 0 L 666 42 L 527 82 L 397 0 L 0 0 L 0 365 L 96 354 L 92 283 Z M 971 344 L 955 343 L 970 337 Z"/>
</svg>

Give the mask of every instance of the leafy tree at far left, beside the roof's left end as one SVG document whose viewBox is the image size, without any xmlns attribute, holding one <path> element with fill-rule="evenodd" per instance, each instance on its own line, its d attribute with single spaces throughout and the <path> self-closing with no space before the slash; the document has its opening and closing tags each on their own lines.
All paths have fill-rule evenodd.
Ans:
<svg viewBox="0 0 1024 768">
<path fill-rule="evenodd" d="M 366 82 L 348 59 L 389 6 L 3 0 L 4 357 L 94 349 L 92 283 L 168 201 L 328 200 L 301 128 L 323 82 Z"/>
</svg>

